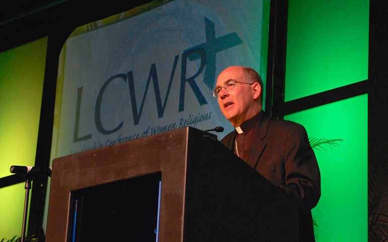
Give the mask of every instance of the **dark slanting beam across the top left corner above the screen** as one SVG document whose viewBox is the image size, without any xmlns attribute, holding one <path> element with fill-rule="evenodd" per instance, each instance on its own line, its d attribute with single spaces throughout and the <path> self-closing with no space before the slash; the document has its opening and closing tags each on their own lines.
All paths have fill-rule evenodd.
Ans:
<svg viewBox="0 0 388 242">
<path fill-rule="evenodd" d="M 79 26 L 122 13 L 151 1 L 67 0 L 55 2 L 40 0 L 37 2 L 47 2 L 47 5 L 26 10 L 27 12 L 23 12 L 20 8 L 21 16 L 17 15 L 17 9 L 10 10 L 17 17 L 0 16 L 0 52 L 43 38 L 55 31 L 66 32 L 68 29 L 73 31 Z M 0 15 L 7 11 L 2 8 L 1 4 L 0 0 Z"/>
</svg>

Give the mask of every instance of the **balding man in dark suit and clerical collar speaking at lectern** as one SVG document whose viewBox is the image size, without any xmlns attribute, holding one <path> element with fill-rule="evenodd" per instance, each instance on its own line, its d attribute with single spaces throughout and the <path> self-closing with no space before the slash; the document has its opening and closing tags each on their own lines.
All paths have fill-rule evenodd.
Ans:
<svg viewBox="0 0 388 242">
<path fill-rule="evenodd" d="M 299 241 L 315 241 L 311 209 L 320 197 L 320 173 L 305 129 L 266 116 L 263 81 L 251 68 L 225 69 L 213 96 L 235 127 L 221 142 L 297 202 Z"/>
</svg>

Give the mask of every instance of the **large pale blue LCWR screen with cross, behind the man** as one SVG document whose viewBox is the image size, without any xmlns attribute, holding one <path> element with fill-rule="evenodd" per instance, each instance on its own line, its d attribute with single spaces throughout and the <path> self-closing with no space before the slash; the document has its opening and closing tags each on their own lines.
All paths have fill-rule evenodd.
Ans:
<svg viewBox="0 0 388 242">
<path fill-rule="evenodd" d="M 266 81 L 269 1 L 161 2 L 68 38 L 51 159 L 185 126 L 223 126 L 219 138 L 233 129 L 211 93 L 229 66 L 249 66 Z"/>
</svg>

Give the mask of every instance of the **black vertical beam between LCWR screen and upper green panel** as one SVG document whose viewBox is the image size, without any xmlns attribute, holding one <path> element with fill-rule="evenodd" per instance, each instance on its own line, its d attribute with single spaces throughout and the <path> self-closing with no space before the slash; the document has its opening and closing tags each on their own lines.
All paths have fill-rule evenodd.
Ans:
<svg viewBox="0 0 388 242">
<path fill-rule="evenodd" d="M 288 1 L 271 1 L 268 42 L 266 111 L 272 117 L 283 118 L 278 107 L 284 103 L 286 77 Z"/>
</svg>

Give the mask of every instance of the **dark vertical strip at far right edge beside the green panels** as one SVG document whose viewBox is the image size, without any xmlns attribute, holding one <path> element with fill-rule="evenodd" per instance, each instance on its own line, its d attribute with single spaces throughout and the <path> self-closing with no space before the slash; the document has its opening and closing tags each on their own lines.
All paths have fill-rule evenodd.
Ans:
<svg viewBox="0 0 388 242">
<path fill-rule="evenodd" d="M 388 240 L 388 3 L 370 0 L 368 241 Z"/>
</svg>

